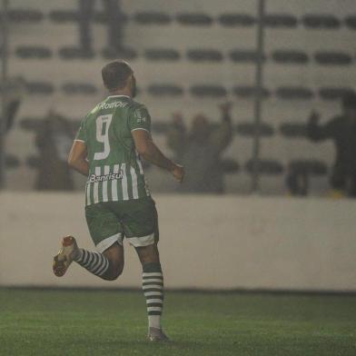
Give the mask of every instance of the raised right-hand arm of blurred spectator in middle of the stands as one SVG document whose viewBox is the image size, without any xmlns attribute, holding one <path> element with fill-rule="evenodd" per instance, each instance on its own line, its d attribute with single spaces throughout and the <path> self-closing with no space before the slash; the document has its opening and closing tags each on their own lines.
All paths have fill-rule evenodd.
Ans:
<svg viewBox="0 0 356 356">
<path fill-rule="evenodd" d="M 232 142 L 232 119 L 231 119 L 231 103 L 225 103 L 220 105 L 222 112 L 222 123 L 218 128 L 213 130 L 210 140 L 217 151 L 223 152 L 223 150 Z"/>
</svg>

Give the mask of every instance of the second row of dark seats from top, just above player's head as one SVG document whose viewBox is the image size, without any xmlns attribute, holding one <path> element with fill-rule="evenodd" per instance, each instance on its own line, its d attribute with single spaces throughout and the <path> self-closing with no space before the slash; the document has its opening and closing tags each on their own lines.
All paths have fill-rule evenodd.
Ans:
<svg viewBox="0 0 356 356">
<path fill-rule="evenodd" d="M 76 47 L 60 48 L 59 56 L 63 59 L 94 58 L 94 52 L 84 52 Z M 54 51 L 42 45 L 21 45 L 15 48 L 15 55 L 22 59 L 50 59 L 54 56 Z M 118 55 L 127 59 L 137 58 L 138 53 L 134 49 L 125 48 L 118 53 L 106 49 L 103 53 L 105 58 L 116 58 Z M 178 61 L 183 57 L 178 50 L 173 48 L 149 48 L 142 54 L 148 61 Z M 255 63 L 258 60 L 258 53 L 254 49 L 234 49 L 228 54 L 216 49 L 190 49 L 186 51 L 186 58 L 193 62 L 220 63 L 228 56 L 232 62 Z M 354 54 L 341 51 L 317 51 L 310 55 L 299 50 L 275 50 L 268 56 L 262 55 L 262 60 L 272 60 L 277 64 L 308 64 L 312 59 L 321 65 L 349 65 L 356 63 Z"/>
</svg>

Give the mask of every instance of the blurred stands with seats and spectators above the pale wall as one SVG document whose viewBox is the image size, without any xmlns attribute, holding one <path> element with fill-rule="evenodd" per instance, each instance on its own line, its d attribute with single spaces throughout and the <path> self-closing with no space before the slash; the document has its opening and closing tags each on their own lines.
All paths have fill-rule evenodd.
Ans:
<svg viewBox="0 0 356 356">
<path fill-rule="evenodd" d="M 2 6 L 5 189 L 83 189 L 65 157 L 106 95 L 102 66 L 124 58 L 154 140 L 187 166 L 181 191 L 353 195 L 356 129 L 331 123 L 346 115 L 345 94 L 356 116 L 353 0 Z M 159 169 L 146 172 L 153 192 L 176 190 Z"/>
</svg>

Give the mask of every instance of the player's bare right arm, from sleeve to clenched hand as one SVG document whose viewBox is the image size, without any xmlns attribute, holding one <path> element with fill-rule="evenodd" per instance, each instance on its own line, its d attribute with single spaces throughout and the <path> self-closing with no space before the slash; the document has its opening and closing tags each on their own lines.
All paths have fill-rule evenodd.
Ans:
<svg viewBox="0 0 356 356">
<path fill-rule="evenodd" d="M 173 174 L 176 181 L 182 182 L 184 176 L 183 166 L 173 163 L 168 159 L 160 149 L 153 143 L 150 133 L 146 130 L 136 129 L 132 131 L 134 145 L 138 153 L 148 162 L 161 167 Z"/>
</svg>

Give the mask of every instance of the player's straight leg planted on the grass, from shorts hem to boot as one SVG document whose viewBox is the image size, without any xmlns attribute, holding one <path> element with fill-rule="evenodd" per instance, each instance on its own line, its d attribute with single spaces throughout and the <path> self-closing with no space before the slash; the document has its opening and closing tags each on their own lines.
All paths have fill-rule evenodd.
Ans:
<svg viewBox="0 0 356 356">
<path fill-rule="evenodd" d="M 136 247 L 143 266 L 143 294 L 147 303 L 148 339 L 150 341 L 169 341 L 162 331 L 163 311 L 163 273 L 157 243 Z"/>
</svg>

